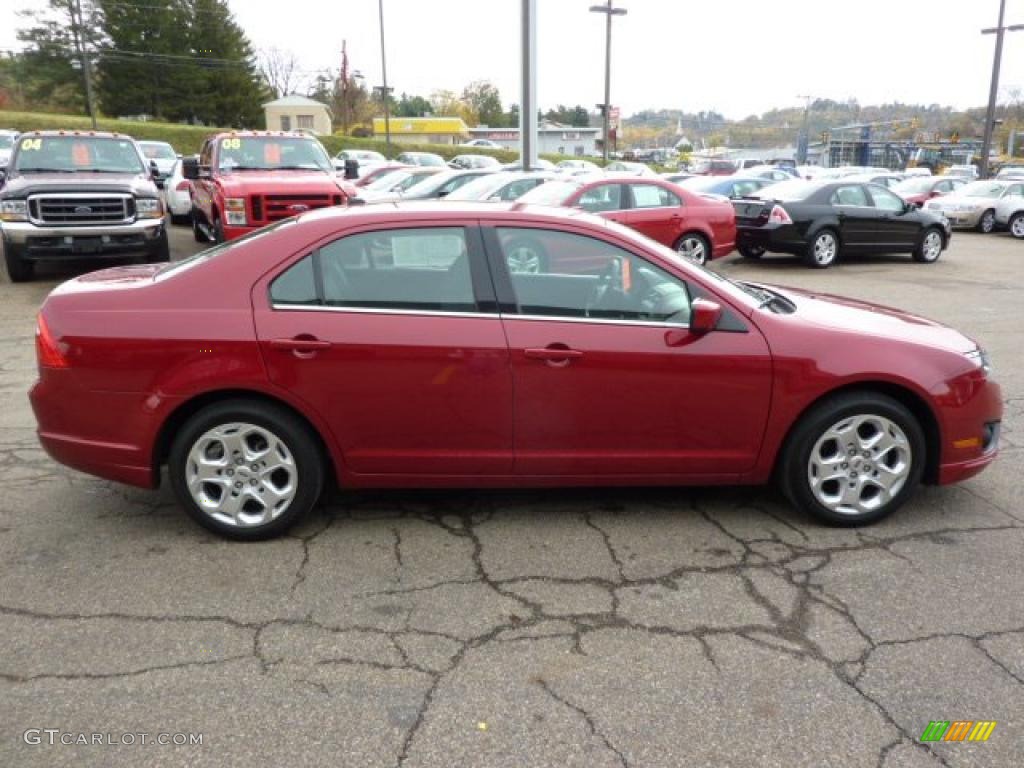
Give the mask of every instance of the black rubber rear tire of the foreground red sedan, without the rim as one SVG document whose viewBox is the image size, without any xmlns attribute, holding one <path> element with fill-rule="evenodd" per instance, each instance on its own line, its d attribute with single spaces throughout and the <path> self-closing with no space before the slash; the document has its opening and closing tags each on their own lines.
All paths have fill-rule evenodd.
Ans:
<svg viewBox="0 0 1024 768">
<path fill-rule="evenodd" d="M 286 455 L 290 455 L 293 462 L 292 469 L 294 475 L 289 475 L 286 470 L 288 484 L 294 483 L 295 492 L 291 501 L 284 509 L 272 516 L 266 522 L 251 522 L 245 524 L 226 522 L 215 514 L 224 514 L 219 506 L 211 512 L 204 511 L 193 498 L 188 489 L 188 475 L 193 463 L 189 461 L 189 453 L 197 441 L 210 430 L 228 424 L 249 424 L 258 430 L 266 430 L 271 437 L 283 443 Z M 252 433 L 259 437 L 260 433 Z M 248 443 L 247 443 L 248 444 Z M 302 515 L 306 514 L 316 504 L 321 492 L 324 487 L 324 457 L 319 451 L 319 440 L 315 433 L 298 417 L 291 412 L 274 406 L 272 403 L 259 400 L 225 400 L 216 402 L 204 408 L 197 413 L 178 430 L 171 444 L 168 457 L 168 474 L 171 486 L 178 498 L 178 501 L 185 508 L 185 511 L 200 525 L 213 530 L 227 539 L 240 541 L 258 541 L 280 536 L 291 527 Z M 226 454 L 225 444 L 222 443 Z M 225 456 L 226 458 L 226 456 Z M 254 460 L 254 467 L 259 459 Z M 265 467 L 263 468 L 265 469 Z M 255 475 L 259 471 L 251 472 L 251 467 L 246 466 L 246 462 L 232 466 L 225 464 L 224 473 L 236 478 L 233 480 L 219 477 L 211 480 L 214 489 L 219 487 L 219 483 L 234 483 L 226 485 L 220 493 L 230 494 L 233 497 L 245 498 L 246 501 L 239 502 L 243 505 L 260 505 L 262 498 L 257 496 L 257 490 L 262 494 L 266 486 L 263 480 L 257 480 Z M 237 471 L 237 474 L 236 474 Z M 218 473 L 219 474 L 219 473 Z M 274 479 L 274 475 L 265 475 L 271 482 L 280 483 L 281 479 Z M 260 478 L 264 475 L 260 475 Z M 250 487 L 251 485 L 251 487 Z M 206 484 L 204 484 L 204 487 Z M 239 490 L 241 489 L 241 497 Z M 208 492 L 209 497 L 209 492 Z M 249 501 L 251 500 L 251 501 Z M 219 500 L 212 499 L 213 503 Z M 265 507 L 265 505 L 263 505 Z M 243 506 L 243 511 L 246 507 Z M 236 518 L 238 519 L 238 518 Z"/>
</svg>

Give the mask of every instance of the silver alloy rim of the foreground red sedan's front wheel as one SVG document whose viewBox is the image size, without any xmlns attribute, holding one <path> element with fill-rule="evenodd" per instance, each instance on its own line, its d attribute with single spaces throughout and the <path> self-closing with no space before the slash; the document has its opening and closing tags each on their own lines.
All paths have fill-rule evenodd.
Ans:
<svg viewBox="0 0 1024 768">
<path fill-rule="evenodd" d="M 883 416 L 858 414 L 833 424 L 814 443 L 807 480 L 829 511 L 856 517 L 892 501 L 910 476 L 910 441 Z"/>
</svg>

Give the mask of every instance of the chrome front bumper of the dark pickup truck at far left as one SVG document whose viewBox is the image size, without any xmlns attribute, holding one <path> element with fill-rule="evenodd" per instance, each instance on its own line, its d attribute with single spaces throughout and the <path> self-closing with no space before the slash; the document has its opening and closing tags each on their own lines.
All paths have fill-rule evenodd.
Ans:
<svg viewBox="0 0 1024 768">
<path fill-rule="evenodd" d="M 15 248 L 30 260 L 142 254 L 164 236 L 164 219 L 139 219 L 110 226 L 38 226 L 7 221 L 0 225 L 4 247 Z"/>
</svg>

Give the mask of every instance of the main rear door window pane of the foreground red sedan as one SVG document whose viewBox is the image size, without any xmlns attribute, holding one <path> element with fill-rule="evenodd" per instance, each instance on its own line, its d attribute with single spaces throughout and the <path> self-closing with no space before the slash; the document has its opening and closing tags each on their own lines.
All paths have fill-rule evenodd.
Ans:
<svg viewBox="0 0 1024 768">
<path fill-rule="evenodd" d="M 461 227 L 385 229 L 319 250 L 328 306 L 476 311 Z"/>
</svg>

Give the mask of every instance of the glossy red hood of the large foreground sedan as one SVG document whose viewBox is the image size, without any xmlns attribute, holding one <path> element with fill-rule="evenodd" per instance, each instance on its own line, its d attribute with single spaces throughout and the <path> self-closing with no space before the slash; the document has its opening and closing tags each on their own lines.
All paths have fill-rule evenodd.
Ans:
<svg viewBox="0 0 1024 768">
<path fill-rule="evenodd" d="M 796 316 L 819 328 L 938 347 L 961 354 L 978 346 L 959 331 L 902 309 L 799 288 L 770 288 L 797 305 Z"/>
</svg>

